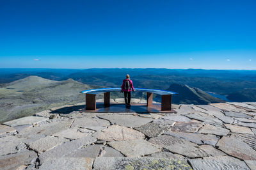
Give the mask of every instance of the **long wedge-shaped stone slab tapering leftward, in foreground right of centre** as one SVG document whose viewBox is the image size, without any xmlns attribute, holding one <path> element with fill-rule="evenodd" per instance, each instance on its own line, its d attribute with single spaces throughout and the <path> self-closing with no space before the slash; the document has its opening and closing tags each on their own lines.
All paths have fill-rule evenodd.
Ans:
<svg viewBox="0 0 256 170">
<path fill-rule="evenodd" d="M 188 141 L 191 141 L 196 144 L 211 144 L 215 146 L 218 143 L 219 138 L 216 135 L 205 135 L 205 134 L 194 134 L 189 132 L 165 132 L 166 135 L 172 135 L 175 137 L 181 137 Z"/>
</svg>

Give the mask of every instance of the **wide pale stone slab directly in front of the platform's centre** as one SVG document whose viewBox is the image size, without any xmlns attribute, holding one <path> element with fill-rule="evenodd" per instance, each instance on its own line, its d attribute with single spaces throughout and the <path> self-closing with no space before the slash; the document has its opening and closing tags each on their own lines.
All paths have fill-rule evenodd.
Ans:
<svg viewBox="0 0 256 170">
<path fill-rule="evenodd" d="M 141 118 L 139 116 L 132 115 L 106 115 L 98 116 L 104 120 L 109 120 L 113 124 L 120 125 L 122 127 L 140 127 L 146 123 L 154 120 L 152 118 Z"/>
</svg>

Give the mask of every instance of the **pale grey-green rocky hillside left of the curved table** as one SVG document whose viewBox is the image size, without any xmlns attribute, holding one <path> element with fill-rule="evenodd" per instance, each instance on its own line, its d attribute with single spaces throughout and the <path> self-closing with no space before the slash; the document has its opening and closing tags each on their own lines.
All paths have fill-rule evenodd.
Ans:
<svg viewBox="0 0 256 170">
<path fill-rule="evenodd" d="M 84 102 L 84 89 L 97 88 L 68 79 L 51 81 L 30 76 L 0 88 L 0 122 L 33 115 L 51 107 Z"/>
</svg>

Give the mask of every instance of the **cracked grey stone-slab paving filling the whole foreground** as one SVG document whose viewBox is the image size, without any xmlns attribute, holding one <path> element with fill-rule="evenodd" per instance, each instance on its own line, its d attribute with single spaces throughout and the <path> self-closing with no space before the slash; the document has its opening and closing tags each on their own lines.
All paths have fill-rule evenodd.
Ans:
<svg viewBox="0 0 256 170">
<path fill-rule="evenodd" d="M 256 103 L 173 105 L 176 114 L 79 107 L 0 125 L 0 169 L 256 169 Z"/>
</svg>

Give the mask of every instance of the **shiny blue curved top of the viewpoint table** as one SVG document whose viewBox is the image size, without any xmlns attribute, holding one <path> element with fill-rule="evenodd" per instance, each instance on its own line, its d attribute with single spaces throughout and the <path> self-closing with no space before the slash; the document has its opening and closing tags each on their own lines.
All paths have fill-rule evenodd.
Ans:
<svg viewBox="0 0 256 170">
<path fill-rule="evenodd" d="M 141 89 L 141 88 L 134 88 L 135 91 L 138 92 L 148 92 L 148 93 L 155 93 L 157 95 L 175 95 L 178 94 L 173 91 L 165 91 L 160 89 Z M 88 89 L 85 91 L 81 91 L 81 93 L 88 93 L 97 95 L 99 93 L 106 93 L 106 92 L 112 92 L 112 91 L 121 91 L 121 88 L 102 88 L 102 89 Z"/>
</svg>

